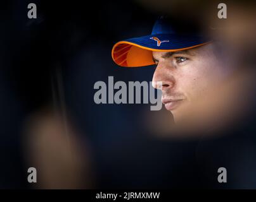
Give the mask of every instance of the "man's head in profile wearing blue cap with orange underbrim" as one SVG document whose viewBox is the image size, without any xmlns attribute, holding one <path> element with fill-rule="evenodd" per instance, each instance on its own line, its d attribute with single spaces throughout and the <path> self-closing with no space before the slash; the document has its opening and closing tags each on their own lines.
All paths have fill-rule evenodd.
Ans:
<svg viewBox="0 0 256 202">
<path fill-rule="evenodd" d="M 218 51 L 209 37 L 194 30 L 174 31 L 167 18 L 161 17 L 151 35 L 115 44 L 112 57 L 124 67 L 156 64 L 153 87 L 162 90 L 162 102 L 174 121 L 188 124 L 195 120 L 201 122 L 205 116 L 212 117 L 208 107 L 214 106 L 210 103 L 214 92 L 231 72 L 232 68 L 224 66 Z M 157 85 L 157 81 L 162 81 L 162 85 Z"/>
</svg>

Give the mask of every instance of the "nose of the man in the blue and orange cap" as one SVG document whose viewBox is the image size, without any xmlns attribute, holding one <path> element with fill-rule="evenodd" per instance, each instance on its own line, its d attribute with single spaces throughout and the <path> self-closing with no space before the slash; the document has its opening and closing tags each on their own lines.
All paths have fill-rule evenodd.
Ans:
<svg viewBox="0 0 256 202">
<path fill-rule="evenodd" d="M 153 74 L 152 86 L 153 88 L 157 88 L 158 90 L 170 90 L 173 88 L 175 84 L 174 76 L 171 73 L 169 68 L 165 68 L 164 66 L 160 66 L 158 64 L 155 69 L 155 73 Z"/>
</svg>

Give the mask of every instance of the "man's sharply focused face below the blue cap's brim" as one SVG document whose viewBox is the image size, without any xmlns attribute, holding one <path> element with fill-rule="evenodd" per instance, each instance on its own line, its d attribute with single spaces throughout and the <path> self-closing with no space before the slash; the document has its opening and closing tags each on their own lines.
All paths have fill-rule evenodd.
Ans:
<svg viewBox="0 0 256 202">
<path fill-rule="evenodd" d="M 157 64 L 153 83 L 162 81 L 162 86 L 154 87 L 162 89 L 162 102 L 176 122 L 225 75 L 212 44 L 177 52 L 153 52 L 153 60 Z"/>
</svg>

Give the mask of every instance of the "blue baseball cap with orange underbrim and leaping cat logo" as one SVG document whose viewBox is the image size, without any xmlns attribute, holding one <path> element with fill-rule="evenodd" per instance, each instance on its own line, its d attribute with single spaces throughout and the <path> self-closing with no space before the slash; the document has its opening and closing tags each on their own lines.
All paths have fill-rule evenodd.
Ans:
<svg viewBox="0 0 256 202">
<path fill-rule="evenodd" d="M 112 49 L 112 58 L 116 64 L 123 67 L 148 66 L 155 64 L 152 51 L 175 52 L 210 42 L 208 37 L 198 33 L 175 32 L 170 23 L 161 17 L 155 22 L 151 35 L 117 42 Z"/>
</svg>

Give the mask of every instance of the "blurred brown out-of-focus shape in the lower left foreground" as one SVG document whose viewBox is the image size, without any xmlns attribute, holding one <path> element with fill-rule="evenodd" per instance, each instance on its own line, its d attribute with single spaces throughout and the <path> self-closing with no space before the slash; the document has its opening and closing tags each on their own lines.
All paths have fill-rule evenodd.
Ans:
<svg viewBox="0 0 256 202">
<path fill-rule="evenodd" d="M 37 169 L 39 189 L 93 186 L 89 148 L 82 148 L 79 136 L 67 125 L 51 111 L 34 114 L 25 125 L 25 157 L 28 167 Z"/>
</svg>

